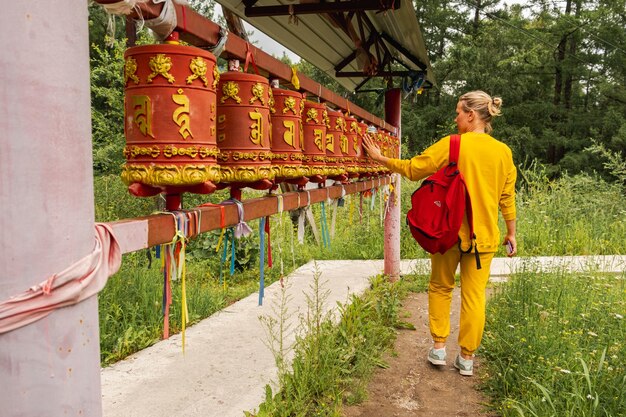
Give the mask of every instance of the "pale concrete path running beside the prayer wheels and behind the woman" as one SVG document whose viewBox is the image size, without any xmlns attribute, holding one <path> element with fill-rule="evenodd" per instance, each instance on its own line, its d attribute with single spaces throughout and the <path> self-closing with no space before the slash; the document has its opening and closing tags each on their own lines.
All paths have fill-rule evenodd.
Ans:
<svg viewBox="0 0 626 417">
<path fill-rule="evenodd" d="M 492 279 L 512 271 L 606 270 L 622 272 L 626 256 L 562 258 L 496 258 Z M 383 261 L 318 261 L 327 308 L 368 288 L 369 278 L 382 272 Z M 428 260 L 402 261 L 402 273 L 427 272 Z M 308 263 L 285 279 L 291 332 L 295 340 L 299 317 L 306 312 L 314 264 Z M 104 417 L 242 417 L 263 401 L 264 387 L 277 375 L 274 358 L 259 316 L 275 316 L 280 283 L 229 306 L 187 329 L 186 351 L 174 335 L 102 370 Z"/>
</svg>

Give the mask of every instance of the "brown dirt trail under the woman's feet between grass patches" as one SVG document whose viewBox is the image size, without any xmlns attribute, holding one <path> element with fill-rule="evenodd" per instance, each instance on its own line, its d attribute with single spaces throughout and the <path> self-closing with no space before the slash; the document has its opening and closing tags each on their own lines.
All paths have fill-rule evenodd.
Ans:
<svg viewBox="0 0 626 417">
<path fill-rule="evenodd" d="M 368 399 L 360 405 L 345 407 L 344 416 L 494 416 L 485 411 L 483 404 L 486 400 L 476 389 L 480 359 L 474 361 L 473 377 L 459 375 L 453 366 L 458 352 L 459 306 L 460 292 L 457 288 L 452 298 L 448 365 L 435 367 L 426 360 L 431 346 L 427 295 L 410 294 L 404 300 L 400 317 L 415 325 L 417 331 L 399 331 L 394 349 L 397 356 L 386 356 L 389 368 L 376 373 L 368 387 Z"/>
</svg>

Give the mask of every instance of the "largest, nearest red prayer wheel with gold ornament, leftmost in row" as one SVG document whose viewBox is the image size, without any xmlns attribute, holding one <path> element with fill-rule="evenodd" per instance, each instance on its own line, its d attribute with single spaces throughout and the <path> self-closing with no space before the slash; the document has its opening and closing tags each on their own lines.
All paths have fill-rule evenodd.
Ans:
<svg viewBox="0 0 626 417">
<path fill-rule="evenodd" d="M 124 59 L 121 177 L 129 191 L 149 196 L 215 190 L 215 56 L 172 43 L 132 47 Z"/>
</svg>

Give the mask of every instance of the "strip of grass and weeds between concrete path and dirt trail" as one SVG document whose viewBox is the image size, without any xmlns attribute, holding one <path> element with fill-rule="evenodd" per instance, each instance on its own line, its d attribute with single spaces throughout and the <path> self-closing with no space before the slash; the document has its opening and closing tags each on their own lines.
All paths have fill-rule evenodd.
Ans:
<svg viewBox="0 0 626 417">
<path fill-rule="evenodd" d="M 302 316 L 293 348 L 291 370 L 287 369 L 288 352 L 280 344 L 285 331 L 282 323 L 289 312 L 281 303 L 277 319 L 262 322 L 271 335 L 279 368 L 280 390 L 266 387 L 265 402 L 258 412 L 248 416 L 340 416 L 344 402 L 366 397 L 366 382 L 376 367 L 386 367 L 382 353 L 395 339 L 400 290 L 383 277 L 372 280 L 372 289 L 361 297 L 352 296 L 339 305 L 340 319 L 333 324 L 332 313 L 325 306 L 327 291 L 319 271 L 307 294 L 308 311 Z"/>
</svg>

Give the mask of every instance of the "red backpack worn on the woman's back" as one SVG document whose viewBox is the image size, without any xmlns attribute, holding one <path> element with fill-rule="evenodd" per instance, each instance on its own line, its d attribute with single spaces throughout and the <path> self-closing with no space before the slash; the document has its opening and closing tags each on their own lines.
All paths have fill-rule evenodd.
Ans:
<svg viewBox="0 0 626 417">
<path fill-rule="evenodd" d="M 459 171 L 459 149 L 461 136 L 450 136 L 449 163 L 422 181 L 422 185 L 411 196 L 411 209 L 406 221 L 417 243 L 429 253 L 444 254 L 460 244 L 459 230 L 467 212 L 470 236 L 474 242 L 476 265 L 480 269 L 480 258 L 476 248 L 476 235 L 470 200 L 463 175 Z M 467 251 L 472 250 L 472 244 Z"/>
</svg>

